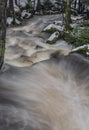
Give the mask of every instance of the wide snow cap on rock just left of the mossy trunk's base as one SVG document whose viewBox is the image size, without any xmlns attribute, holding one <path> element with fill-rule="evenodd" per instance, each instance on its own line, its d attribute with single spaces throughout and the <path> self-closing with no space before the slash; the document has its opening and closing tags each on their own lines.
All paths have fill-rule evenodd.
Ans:
<svg viewBox="0 0 89 130">
<path fill-rule="evenodd" d="M 51 30 L 63 31 L 64 30 L 64 26 L 50 24 L 46 28 L 43 29 L 43 31 L 51 31 Z"/>
</svg>

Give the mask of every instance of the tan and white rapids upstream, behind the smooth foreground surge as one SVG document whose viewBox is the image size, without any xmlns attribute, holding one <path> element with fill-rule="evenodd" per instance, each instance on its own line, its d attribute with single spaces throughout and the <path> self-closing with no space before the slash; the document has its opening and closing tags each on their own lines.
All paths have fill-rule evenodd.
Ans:
<svg viewBox="0 0 89 130">
<path fill-rule="evenodd" d="M 46 43 L 50 34 L 43 29 L 55 20 L 62 21 L 62 15 L 35 15 L 22 26 L 8 28 L 5 62 L 20 67 L 31 66 L 49 59 L 55 51 L 68 54 L 72 47 L 65 41 L 58 40 L 54 45 Z"/>
</svg>

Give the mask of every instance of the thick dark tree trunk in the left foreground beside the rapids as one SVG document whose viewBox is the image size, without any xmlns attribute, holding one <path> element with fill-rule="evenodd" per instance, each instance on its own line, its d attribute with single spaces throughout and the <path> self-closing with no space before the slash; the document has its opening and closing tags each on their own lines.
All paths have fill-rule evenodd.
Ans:
<svg viewBox="0 0 89 130">
<path fill-rule="evenodd" d="M 0 0 L 0 70 L 4 63 L 7 0 Z"/>
</svg>

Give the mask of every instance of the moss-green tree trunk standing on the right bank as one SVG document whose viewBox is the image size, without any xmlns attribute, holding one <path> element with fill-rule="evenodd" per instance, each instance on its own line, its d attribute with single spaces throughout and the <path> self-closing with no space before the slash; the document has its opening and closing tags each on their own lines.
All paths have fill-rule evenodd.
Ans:
<svg viewBox="0 0 89 130">
<path fill-rule="evenodd" d="M 65 9 L 65 28 L 66 32 L 70 32 L 70 23 L 71 23 L 71 0 L 66 0 L 66 9 Z"/>
</svg>

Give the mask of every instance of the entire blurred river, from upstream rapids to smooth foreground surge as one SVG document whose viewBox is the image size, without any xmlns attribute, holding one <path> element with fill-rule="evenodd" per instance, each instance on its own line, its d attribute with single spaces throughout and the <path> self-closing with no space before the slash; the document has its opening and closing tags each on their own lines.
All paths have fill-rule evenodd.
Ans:
<svg viewBox="0 0 89 130">
<path fill-rule="evenodd" d="M 68 54 L 71 46 L 64 41 L 46 44 L 42 32 L 59 17 L 35 16 L 24 27 L 7 30 L 0 130 L 89 129 L 89 61 Z"/>
</svg>

